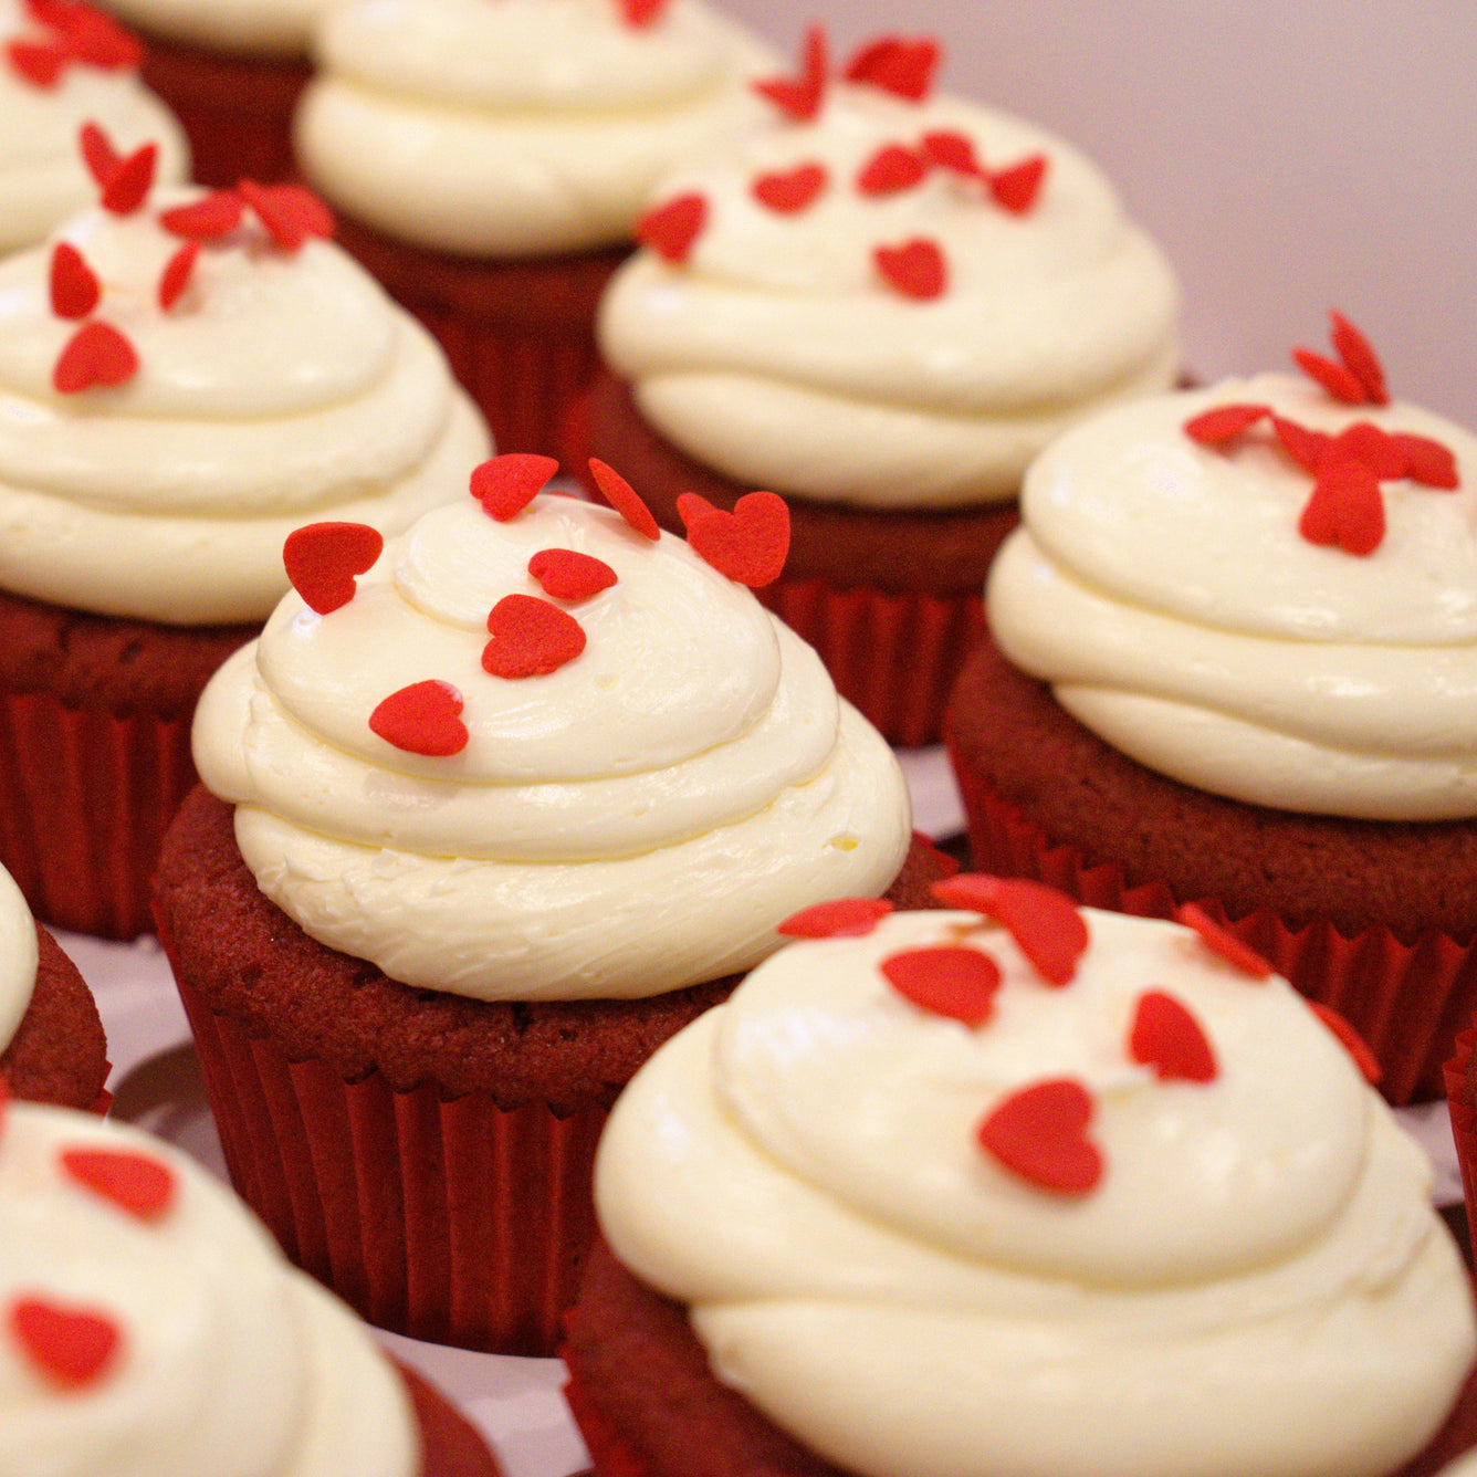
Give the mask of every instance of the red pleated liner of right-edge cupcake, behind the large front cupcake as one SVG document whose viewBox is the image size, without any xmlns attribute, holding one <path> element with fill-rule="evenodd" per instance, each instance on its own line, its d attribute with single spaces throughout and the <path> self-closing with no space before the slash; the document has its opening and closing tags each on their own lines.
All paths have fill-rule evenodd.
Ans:
<svg viewBox="0 0 1477 1477">
<path fill-rule="evenodd" d="M 1131 886 L 1117 863 L 1090 866 L 972 774 L 963 756 L 951 758 L 978 870 L 1032 877 L 1089 907 L 1142 917 L 1173 917 L 1176 904 L 1198 902 L 1309 1000 L 1349 1021 L 1375 1053 L 1391 1103 L 1443 1094 L 1443 1063 L 1477 1012 L 1477 944 L 1436 929 L 1405 944 L 1380 925 L 1349 938 L 1326 919 L 1294 928 L 1270 908 L 1233 919 L 1216 898 L 1176 898 L 1164 882 Z"/>
</svg>

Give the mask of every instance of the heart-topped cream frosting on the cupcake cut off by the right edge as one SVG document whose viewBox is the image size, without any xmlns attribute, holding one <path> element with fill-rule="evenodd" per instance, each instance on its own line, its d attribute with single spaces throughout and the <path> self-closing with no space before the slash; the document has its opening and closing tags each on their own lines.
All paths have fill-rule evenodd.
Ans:
<svg viewBox="0 0 1477 1477">
<path fill-rule="evenodd" d="M 1477 815 L 1477 439 L 1338 357 L 1103 412 L 1032 465 L 987 606 L 1108 743 L 1236 801 Z M 1368 384 L 1350 369 L 1362 366 Z"/>
</svg>

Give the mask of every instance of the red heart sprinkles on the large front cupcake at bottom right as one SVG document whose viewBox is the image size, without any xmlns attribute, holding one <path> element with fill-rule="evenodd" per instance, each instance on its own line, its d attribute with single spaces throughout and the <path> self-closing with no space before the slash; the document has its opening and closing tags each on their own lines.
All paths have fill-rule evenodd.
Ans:
<svg viewBox="0 0 1477 1477">
<path fill-rule="evenodd" d="M 979 913 L 1004 928 L 1050 990 L 1071 985 L 1087 950 L 1087 923 L 1063 892 L 1028 879 L 960 873 L 932 885 L 948 908 Z M 857 938 L 870 933 L 892 904 L 882 898 L 842 898 L 805 908 L 778 932 L 789 938 Z M 1201 944 L 1252 981 L 1272 976 L 1272 966 L 1204 908 L 1186 904 L 1176 920 L 1195 931 Z M 967 942 L 935 944 L 889 954 L 880 963 L 888 984 L 929 1015 L 979 1029 L 994 1015 L 1000 966 Z M 1353 1056 L 1369 1081 L 1378 1081 L 1374 1053 L 1353 1027 L 1328 1006 L 1312 1006 Z M 1211 1083 L 1219 1068 L 1201 1024 L 1165 990 L 1145 990 L 1134 1003 L 1124 1052 L 1158 1081 Z M 1090 1137 L 1096 1103 L 1074 1077 L 1049 1077 L 1006 1094 L 976 1128 L 981 1148 L 1001 1167 L 1037 1189 L 1078 1196 L 1103 1176 L 1103 1155 Z"/>
</svg>

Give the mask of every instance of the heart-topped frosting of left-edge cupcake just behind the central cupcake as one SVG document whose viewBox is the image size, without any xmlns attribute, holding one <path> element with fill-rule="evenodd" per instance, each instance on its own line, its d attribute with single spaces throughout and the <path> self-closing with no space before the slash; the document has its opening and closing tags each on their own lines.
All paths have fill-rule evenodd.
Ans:
<svg viewBox="0 0 1477 1477">
<path fill-rule="evenodd" d="M 294 527 L 403 529 L 486 455 L 440 349 L 312 195 L 152 189 L 152 146 L 96 127 L 83 152 L 100 202 L 0 263 L 0 588 L 261 620 Z"/>
</svg>

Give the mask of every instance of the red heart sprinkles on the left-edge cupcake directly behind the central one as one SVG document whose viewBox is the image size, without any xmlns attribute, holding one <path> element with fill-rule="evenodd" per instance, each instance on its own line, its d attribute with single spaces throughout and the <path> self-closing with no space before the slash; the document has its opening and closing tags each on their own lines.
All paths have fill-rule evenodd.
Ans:
<svg viewBox="0 0 1477 1477">
<path fill-rule="evenodd" d="M 96 123 L 81 127 L 80 146 L 87 171 L 97 183 L 99 202 L 114 216 L 133 216 L 143 210 L 154 188 L 158 146 L 145 143 L 120 155 Z M 310 236 L 331 236 L 334 219 L 328 207 L 297 185 L 257 185 L 242 180 L 233 191 L 217 191 L 191 205 L 161 211 L 160 225 L 182 238 L 180 248 L 165 261 L 155 297 L 168 313 L 189 287 L 201 247 L 220 242 L 242 222 L 247 210 L 256 213 L 272 244 L 282 251 L 297 251 Z M 139 354 L 127 335 L 106 319 L 96 318 L 102 284 L 83 254 L 71 242 L 52 248 L 50 301 L 58 318 L 78 323 L 62 346 L 52 369 L 52 384 L 62 394 L 80 394 L 95 385 L 118 385 L 139 372 Z"/>
</svg>

